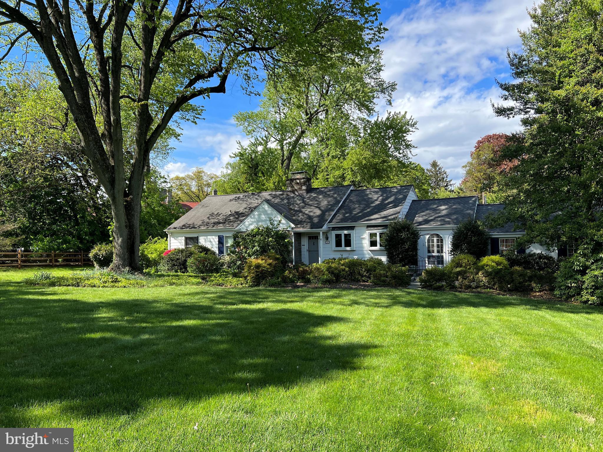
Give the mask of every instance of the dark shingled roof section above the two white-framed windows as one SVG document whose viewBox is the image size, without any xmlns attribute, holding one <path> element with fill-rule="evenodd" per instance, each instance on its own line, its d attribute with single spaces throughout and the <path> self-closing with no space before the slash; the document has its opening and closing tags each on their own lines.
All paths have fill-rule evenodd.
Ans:
<svg viewBox="0 0 603 452">
<path fill-rule="evenodd" d="M 412 190 L 412 185 L 352 190 L 329 224 L 393 221 Z"/>
</svg>

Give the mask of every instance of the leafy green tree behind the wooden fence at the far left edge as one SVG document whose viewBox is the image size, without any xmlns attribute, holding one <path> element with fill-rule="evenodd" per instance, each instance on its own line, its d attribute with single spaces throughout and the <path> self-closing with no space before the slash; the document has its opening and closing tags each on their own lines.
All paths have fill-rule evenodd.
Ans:
<svg viewBox="0 0 603 452">
<path fill-rule="evenodd" d="M 13 246 L 90 250 L 109 239 L 110 209 L 62 95 L 42 71 L 0 87 L 0 218 Z"/>
</svg>

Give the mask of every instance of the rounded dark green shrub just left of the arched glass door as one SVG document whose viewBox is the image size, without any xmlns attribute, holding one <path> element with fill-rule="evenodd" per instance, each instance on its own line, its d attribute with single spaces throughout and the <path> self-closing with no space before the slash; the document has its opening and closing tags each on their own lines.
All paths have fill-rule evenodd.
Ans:
<svg viewBox="0 0 603 452">
<path fill-rule="evenodd" d="M 390 222 L 385 233 L 381 234 L 381 243 L 385 248 L 388 263 L 417 265 L 418 228 L 407 220 Z"/>
</svg>

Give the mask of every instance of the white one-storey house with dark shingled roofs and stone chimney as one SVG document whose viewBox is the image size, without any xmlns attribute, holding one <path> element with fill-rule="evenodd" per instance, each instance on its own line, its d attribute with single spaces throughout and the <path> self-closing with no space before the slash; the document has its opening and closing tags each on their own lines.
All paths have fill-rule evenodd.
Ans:
<svg viewBox="0 0 603 452">
<path fill-rule="evenodd" d="M 168 248 L 200 243 L 219 255 L 229 253 L 236 231 L 267 225 L 270 219 L 291 231 L 294 263 L 320 263 L 333 257 L 386 260 L 380 233 L 390 221 L 406 218 L 421 231 L 420 268 L 446 265 L 453 230 L 467 218 L 484 219 L 502 204 L 479 204 L 478 196 L 417 199 L 412 185 L 356 190 L 353 186 L 312 188 L 306 172 L 294 172 L 278 192 L 210 195 L 166 229 Z M 523 234 L 508 224 L 489 230 L 490 254 L 512 249 Z M 566 255 L 532 245 L 528 252 Z M 519 252 L 525 252 L 520 250 Z M 570 250 L 571 253 L 571 250 Z"/>
</svg>

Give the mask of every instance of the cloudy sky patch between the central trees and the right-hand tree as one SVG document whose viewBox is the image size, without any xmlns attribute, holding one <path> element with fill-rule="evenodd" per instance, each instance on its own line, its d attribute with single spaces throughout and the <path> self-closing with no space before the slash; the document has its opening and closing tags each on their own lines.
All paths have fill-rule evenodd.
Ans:
<svg viewBox="0 0 603 452">
<path fill-rule="evenodd" d="M 508 72 L 507 48 L 520 46 L 532 0 L 441 5 L 420 1 L 390 17 L 382 45 L 387 80 L 398 83 L 393 110 L 418 121 L 415 161 L 437 159 L 458 181 L 475 142 L 511 132 L 517 120 L 496 118 L 494 77 Z"/>
</svg>

